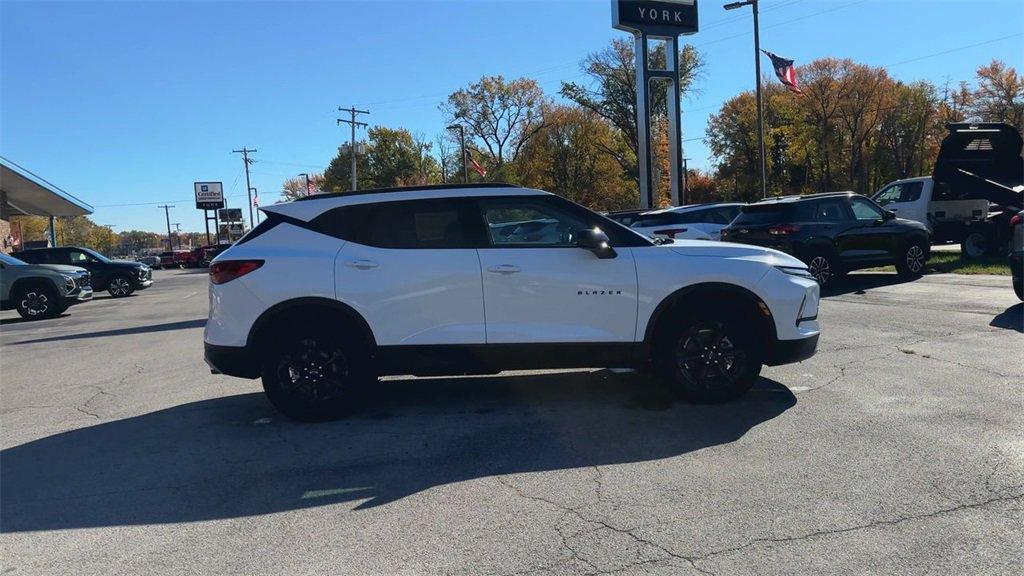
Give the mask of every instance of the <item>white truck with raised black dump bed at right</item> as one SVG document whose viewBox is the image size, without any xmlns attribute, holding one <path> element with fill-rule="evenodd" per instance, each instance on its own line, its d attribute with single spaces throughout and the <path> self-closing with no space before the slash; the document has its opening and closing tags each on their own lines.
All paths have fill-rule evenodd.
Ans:
<svg viewBox="0 0 1024 576">
<path fill-rule="evenodd" d="M 1006 253 L 1010 218 L 1022 208 L 1021 134 L 996 123 L 948 124 L 933 175 L 889 182 L 871 198 L 918 220 L 932 244 L 961 244 L 964 255 Z"/>
</svg>

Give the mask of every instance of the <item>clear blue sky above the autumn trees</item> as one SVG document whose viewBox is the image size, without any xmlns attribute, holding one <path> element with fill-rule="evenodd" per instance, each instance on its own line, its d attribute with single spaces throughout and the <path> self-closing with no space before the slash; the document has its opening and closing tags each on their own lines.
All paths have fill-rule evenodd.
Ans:
<svg viewBox="0 0 1024 576">
<path fill-rule="evenodd" d="M 683 104 L 684 138 L 753 86 L 750 12 L 722 3 L 701 0 L 701 31 L 684 37 L 708 63 L 700 93 Z M 973 80 L 992 58 L 1024 69 L 1020 0 L 761 5 L 762 46 L 798 64 L 851 57 L 940 84 Z M 583 56 L 623 37 L 608 0 L 3 1 L 0 154 L 91 203 L 93 219 L 116 231 L 165 230 L 157 205 L 167 201 L 172 221 L 200 231 L 193 181 L 222 180 L 228 204 L 246 204 L 233 149 L 258 149 L 253 186 L 266 204 L 347 140 L 339 106 L 432 137 L 447 93 L 502 74 L 555 95 L 560 81 L 581 79 Z M 710 165 L 702 142 L 685 147 L 691 166 Z"/>
</svg>

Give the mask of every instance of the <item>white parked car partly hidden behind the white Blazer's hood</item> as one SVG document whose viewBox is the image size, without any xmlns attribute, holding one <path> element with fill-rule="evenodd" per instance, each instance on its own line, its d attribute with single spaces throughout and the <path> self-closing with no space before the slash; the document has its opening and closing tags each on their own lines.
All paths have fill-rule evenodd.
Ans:
<svg viewBox="0 0 1024 576">
<path fill-rule="evenodd" d="M 640 214 L 630 228 L 644 236 L 679 240 L 718 240 L 742 204 L 692 204 Z"/>
</svg>

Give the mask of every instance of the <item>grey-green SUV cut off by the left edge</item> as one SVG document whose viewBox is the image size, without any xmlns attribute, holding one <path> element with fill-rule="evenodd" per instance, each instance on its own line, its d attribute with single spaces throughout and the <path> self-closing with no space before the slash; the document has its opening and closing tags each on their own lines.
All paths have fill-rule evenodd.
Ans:
<svg viewBox="0 0 1024 576">
<path fill-rule="evenodd" d="M 14 308 L 22 318 L 40 320 L 91 299 L 88 271 L 30 264 L 0 252 L 0 310 Z"/>
</svg>

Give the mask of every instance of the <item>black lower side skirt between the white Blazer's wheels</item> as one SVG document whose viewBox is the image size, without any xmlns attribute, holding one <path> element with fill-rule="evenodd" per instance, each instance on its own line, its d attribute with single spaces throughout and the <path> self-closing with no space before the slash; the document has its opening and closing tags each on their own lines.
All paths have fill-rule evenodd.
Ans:
<svg viewBox="0 0 1024 576">
<path fill-rule="evenodd" d="M 545 368 L 629 368 L 646 362 L 642 342 L 379 346 L 384 375 L 457 376 Z"/>
</svg>

